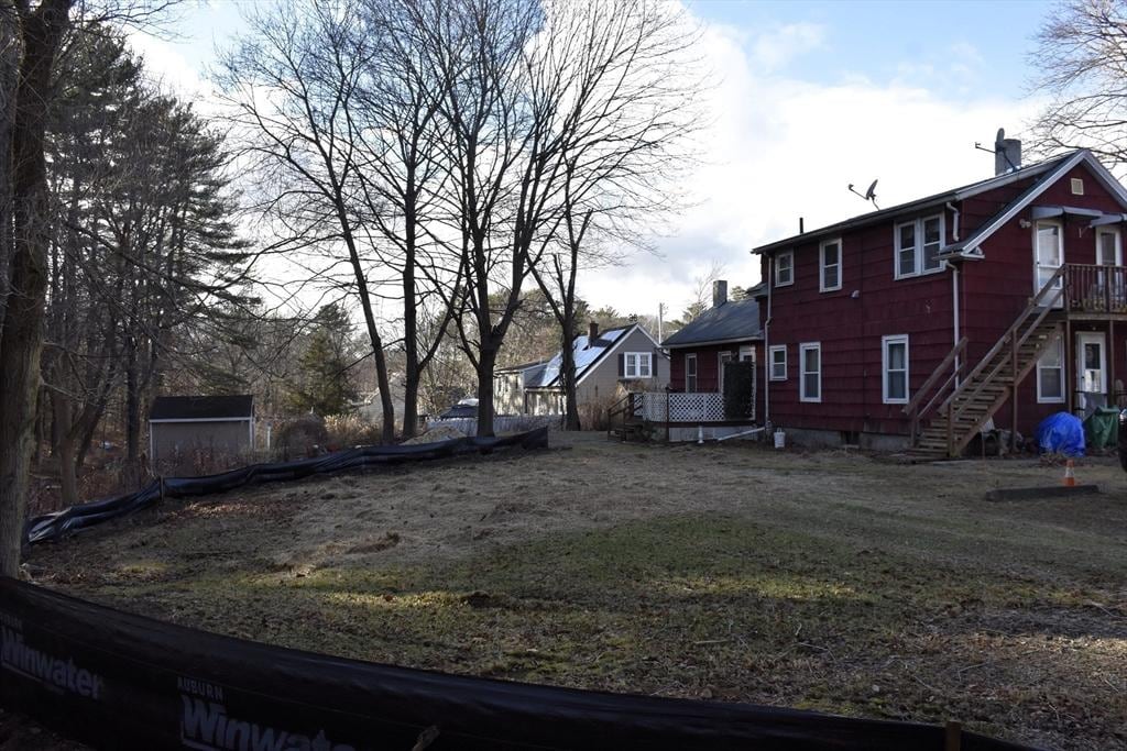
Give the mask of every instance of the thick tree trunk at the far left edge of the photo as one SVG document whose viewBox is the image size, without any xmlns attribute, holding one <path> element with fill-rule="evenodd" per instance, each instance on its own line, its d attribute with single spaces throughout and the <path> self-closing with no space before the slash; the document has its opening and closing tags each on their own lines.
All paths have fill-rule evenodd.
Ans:
<svg viewBox="0 0 1127 751">
<path fill-rule="evenodd" d="M 44 0 L 34 12 L 19 11 L 24 59 L 11 131 L 11 294 L 0 330 L 0 575 L 6 576 L 19 573 L 27 512 L 51 241 L 44 135 L 51 69 L 70 6 L 71 0 Z"/>
</svg>

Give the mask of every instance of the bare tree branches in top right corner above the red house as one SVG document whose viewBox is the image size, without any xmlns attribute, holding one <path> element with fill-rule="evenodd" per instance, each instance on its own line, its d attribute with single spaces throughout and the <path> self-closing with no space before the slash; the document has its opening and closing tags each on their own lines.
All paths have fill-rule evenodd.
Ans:
<svg viewBox="0 0 1127 751">
<path fill-rule="evenodd" d="M 1127 3 L 1067 0 L 1037 42 L 1035 90 L 1053 97 L 1033 125 L 1037 150 L 1083 146 L 1127 163 Z"/>
</svg>

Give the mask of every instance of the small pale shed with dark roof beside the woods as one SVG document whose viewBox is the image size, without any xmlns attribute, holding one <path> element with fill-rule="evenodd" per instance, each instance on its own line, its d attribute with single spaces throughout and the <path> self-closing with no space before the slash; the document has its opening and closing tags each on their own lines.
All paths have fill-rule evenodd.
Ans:
<svg viewBox="0 0 1127 751">
<path fill-rule="evenodd" d="M 158 396 L 149 410 L 151 462 L 195 449 L 246 454 L 255 446 L 255 397 Z"/>
</svg>

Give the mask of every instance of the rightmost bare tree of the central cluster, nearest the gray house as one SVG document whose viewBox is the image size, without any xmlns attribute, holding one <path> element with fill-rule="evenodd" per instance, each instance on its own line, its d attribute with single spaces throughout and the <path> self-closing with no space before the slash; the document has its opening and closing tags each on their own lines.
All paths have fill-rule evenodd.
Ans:
<svg viewBox="0 0 1127 751">
<path fill-rule="evenodd" d="M 645 234 L 677 208 L 677 177 L 691 163 L 699 118 L 691 71 L 693 26 L 668 3 L 650 0 L 550 6 L 544 43 L 551 90 L 569 102 L 562 137 L 562 191 L 552 231 L 562 252 L 532 272 L 561 330 L 568 429 L 579 428 L 574 340 L 576 277 L 645 248 Z"/>
</svg>

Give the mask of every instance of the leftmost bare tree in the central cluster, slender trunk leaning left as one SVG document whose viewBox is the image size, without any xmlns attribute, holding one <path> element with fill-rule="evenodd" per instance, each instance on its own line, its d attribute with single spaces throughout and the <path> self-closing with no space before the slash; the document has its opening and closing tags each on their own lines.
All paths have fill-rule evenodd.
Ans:
<svg viewBox="0 0 1127 751">
<path fill-rule="evenodd" d="M 364 247 L 373 208 L 364 200 L 365 162 L 355 101 L 371 63 L 357 47 L 345 2 L 286 6 L 248 18 L 251 35 L 222 60 L 218 77 L 245 158 L 270 189 L 260 207 L 290 233 L 293 253 L 343 249 L 375 360 L 383 439 L 394 438 L 384 340 L 376 324 Z"/>
</svg>

